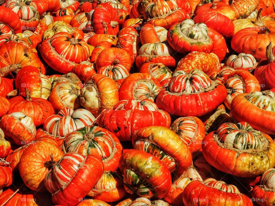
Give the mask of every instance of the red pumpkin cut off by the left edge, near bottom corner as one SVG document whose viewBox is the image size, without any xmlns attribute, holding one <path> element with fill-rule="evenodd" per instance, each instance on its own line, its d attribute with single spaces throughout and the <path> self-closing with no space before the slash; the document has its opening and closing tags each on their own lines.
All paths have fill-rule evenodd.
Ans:
<svg viewBox="0 0 275 206">
<path fill-rule="evenodd" d="M 9 163 L 0 158 L 0 190 L 2 193 L 3 187 L 9 187 L 12 184 L 12 169 Z M 2 197 L 2 195 L 1 195 Z"/>
</svg>

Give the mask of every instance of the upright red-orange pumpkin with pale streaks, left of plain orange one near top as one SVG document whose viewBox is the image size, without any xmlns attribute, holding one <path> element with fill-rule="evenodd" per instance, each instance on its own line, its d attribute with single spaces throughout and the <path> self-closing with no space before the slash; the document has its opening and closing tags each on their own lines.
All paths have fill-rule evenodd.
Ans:
<svg viewBox="0 0 275 206">
<path fill-rule="evenodd" d="M 121 29 L 117 37 L 117 48 L 125 50 L 131 57 L 131 64 L 135 62 L 139 50 L 140 39 L 137 31 L 132 27 Z"/>
</svg>

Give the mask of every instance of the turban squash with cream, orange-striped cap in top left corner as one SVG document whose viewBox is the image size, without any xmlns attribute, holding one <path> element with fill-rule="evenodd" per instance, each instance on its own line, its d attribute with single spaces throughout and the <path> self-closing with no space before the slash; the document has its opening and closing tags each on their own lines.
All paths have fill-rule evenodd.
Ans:
<svg viewBox="0 0 275 206">
<path fill-rule="evenodd" d="M 14 11 L 21 20 L 22 30 L 36 29 L 39 23 L 39 13 L 36 4 L 29 0 L 10 0 L 7 1 L 5 7 Z"/>
</svg>

